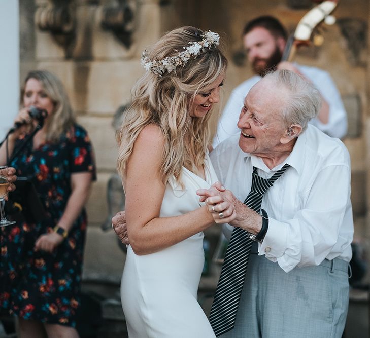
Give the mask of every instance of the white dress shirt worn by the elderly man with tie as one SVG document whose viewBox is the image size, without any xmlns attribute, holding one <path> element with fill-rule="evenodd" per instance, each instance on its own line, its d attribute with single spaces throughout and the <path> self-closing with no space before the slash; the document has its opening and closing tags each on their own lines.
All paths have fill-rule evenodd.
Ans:
<svg viewBox="0 0 370 338">
<path fill-rule="evenodd" d="M 261 158 L 244 153 L 238 136 L 211 153 L 221 183 L 241 201 L 252 184 L 253 166 L 270 178 L 285 163 L 291 167 L 263 195 L 270 219 L 259 255 L 289 272 L 317 266 L 325 258 L 350 261 L 353 238 L 350 158 L 345 145 L 309 125 L 288 158 L 270 170 Z M 230 226 L 229 226 L 230 227 Z"/>
</svg>

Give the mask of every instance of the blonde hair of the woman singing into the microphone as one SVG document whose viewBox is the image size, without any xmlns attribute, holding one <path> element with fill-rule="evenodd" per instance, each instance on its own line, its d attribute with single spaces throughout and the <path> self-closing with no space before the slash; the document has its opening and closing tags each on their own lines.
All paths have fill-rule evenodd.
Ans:
<svg viewBox="0 0 370 338">
<path fill-rule="evenodd" d="M 45 90 L 46 95 L 54 103 L 54 111 L 46 119 L 45 129 L 46 141 L 56 143 L 62 134 L 68 131 L 76 122 L 70 100 L 63 84 L 53 73 L 47 70 L 31 70 L 27 74 L 21 88 L 21 104 L 23 104 L 24 90 L 29 79 L 38 80 Z"/>
</svg>

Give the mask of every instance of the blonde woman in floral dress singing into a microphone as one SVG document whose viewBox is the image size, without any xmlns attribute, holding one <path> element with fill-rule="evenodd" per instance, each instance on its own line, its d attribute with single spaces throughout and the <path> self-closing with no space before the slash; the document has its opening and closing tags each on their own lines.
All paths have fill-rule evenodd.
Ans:
<svg viewBox="0 0 370 338">
<path fill-rule="evenodd" d="M 21 127 L 0 148 L 0 163 L 15 167 L 18 176 L 35 185 L 46 218 L 36 223 L 24 219 L 0 230 L 0 307 L 18 317 L 21 337 L 74 338 L 87 225 L 84 205 L 95 179 L 92 146 L 52 73 L 31 71 L 21 99 L 23 108 L 15 119 Z M 35 108 L 47 112 L 47 118 L 27 141 L 40 120 L 32 119 Z"/>
</svg>

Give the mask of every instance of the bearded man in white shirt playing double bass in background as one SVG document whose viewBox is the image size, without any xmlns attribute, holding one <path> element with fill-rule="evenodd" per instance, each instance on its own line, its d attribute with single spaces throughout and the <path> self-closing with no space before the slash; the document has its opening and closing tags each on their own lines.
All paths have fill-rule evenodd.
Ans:
<svg viewBox="0 0 370 338">
<path fill-rule="evenodd" d="M 213 146 L 224 139 L 239 134 L 238 114 L 251 87 L 267 71 L 290 69 L 312 82 L 322 95 L 322 107 L 310 123 L 331 137 L 342 138 L 347 133 L 347 113 L 341 95 L 330 74 L 322 69 L 296 63 L 281 62 L 287 43 L 287 32 L 272 16 L 261 16 L 249 21 L 243 29 L 243 45 L 255 76 L 234 88 L 218 123 Z"/>
</svg>

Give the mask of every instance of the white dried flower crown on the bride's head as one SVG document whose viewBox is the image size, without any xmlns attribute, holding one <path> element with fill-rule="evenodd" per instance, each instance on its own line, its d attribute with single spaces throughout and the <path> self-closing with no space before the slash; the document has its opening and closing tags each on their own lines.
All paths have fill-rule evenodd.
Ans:
<svg viewBox="0 0 370 338">
<path fill-rule="evenodd" d="M 196 58 L 200 53 L 204 52 L 206 48 L 219 45 L 220 35 L 211 32 L 210 30 L 203 34 L 203 39 L 199 42 L 189 42 L 189 47 L 183 47 L 184 51 L 178 52 L 175 56 L 167 56 L 163 60 L 150 60 L 147 50 L 144 50 L 141 55 L 141 64 L 148 71 L 153 74 L 162 76 L 163 73 L 171 73 L 177 66 L 184 67 L 191 57 Z"/>
</svg>

